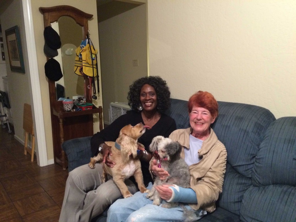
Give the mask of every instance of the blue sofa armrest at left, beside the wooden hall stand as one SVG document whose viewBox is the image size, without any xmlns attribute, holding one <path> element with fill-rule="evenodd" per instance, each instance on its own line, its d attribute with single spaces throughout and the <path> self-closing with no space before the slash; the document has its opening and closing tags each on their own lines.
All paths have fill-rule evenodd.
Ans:
<svg viewBox="0 0 296 222">
<path fill-rule="evenodd" d="M 68 159 L 68 171 L 87 164 L 91 158 L 91 136 L 70 139 L 62 144 Z"/>
</svg>

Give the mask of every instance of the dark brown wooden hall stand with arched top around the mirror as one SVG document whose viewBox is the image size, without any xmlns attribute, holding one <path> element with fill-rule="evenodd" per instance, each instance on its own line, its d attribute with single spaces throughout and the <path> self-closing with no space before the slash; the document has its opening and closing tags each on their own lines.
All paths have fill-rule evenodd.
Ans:
<svg viewBox="0 0 296 222">
<path fill-rule="evenodd" d="M 67 5 L 40 7 L 39 11 L 41 12 L 41 14 L 43 14 L 44 28 L 47 26 L 52 26 L 54 22 L 57 22 L 62 17 L 70 17 L 71 19 L 73 19 L 75 21 L 74 23 L 78 24 L 78 30 L 79 27 L 81 27 L 81 36 L 83 37 L 83 39 L 81 40 L 84 40 L 86 38 L 86 35 L 88 33 L 88 21 L 91 20 L 91 18 L 93 17 L 93 15 L 91 14 L 87 14 L 75 7 Z M 73 49 L 73 53 L 75 53 L 75 49 Z M 75 76 L 76 74 L 74 73 L 74 65 L 69 68 L 73 71 L 73 76 Z M 84 78 L 83 87 L 84 89 L 87 89 L 89 85 L 88 78 L 81 76 L 79 76 L 79 78 Z M 99 113 L 99 129 L 102 130 L 103 110 L 101 106 L 97 108 L 93 105 L 91 110 L 66 112 L 63 108 L 62 101 L 57 100 L 58 98 L 56 91 L 56 82 L 48 79 L 48 84 L 49 100 L 51 106 L 54 162 L 60 164 L 63 170 L 65 170 L 67 168 L 67 157 L 65 152 L 62 150 L 62 143 L 65 140 L 69 139 L 92 136 L 94 134 L 93 114 L 95 113 Z M 89 90 L 84 90 L 84 97 L 86 98 L 86 102 L 92 103 L 90 94 L 91 93 Z"/>
</svg>

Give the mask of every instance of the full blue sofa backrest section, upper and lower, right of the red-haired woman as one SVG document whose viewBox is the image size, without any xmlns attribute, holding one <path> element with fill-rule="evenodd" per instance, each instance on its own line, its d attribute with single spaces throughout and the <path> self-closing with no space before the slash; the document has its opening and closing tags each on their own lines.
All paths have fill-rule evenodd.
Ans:
<svg viewBox="0 0 296 222">
<path fill-rule="evenodd" d="M 252 185 L 256 154 L 274 115 L 263 107 L 218 102 L 219 115 L 212 124 L 218 139 L 227 150 L 223 191 L 218 204 L 239 215 L 245 190 Z"/>
</svg>

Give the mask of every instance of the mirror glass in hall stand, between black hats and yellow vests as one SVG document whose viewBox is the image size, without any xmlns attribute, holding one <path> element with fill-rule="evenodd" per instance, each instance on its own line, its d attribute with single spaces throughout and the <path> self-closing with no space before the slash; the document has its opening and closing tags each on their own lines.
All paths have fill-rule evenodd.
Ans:
<svg viewBox="0 0 296 222">
<path fill-rule="evenodd" d="M 58 49 L 59 55 L 54 57 L 60 63 L 63 73 L 63 77 L 56 82 L 56 99 L 83 96 L 83 76 L 74 73 L 75 50 L 83 40 L 83 27 L 69 16 L 61 16 L 57 22 L 51 23 L 51 26 L 59 34 L 62 43 Z"/>
</svg>

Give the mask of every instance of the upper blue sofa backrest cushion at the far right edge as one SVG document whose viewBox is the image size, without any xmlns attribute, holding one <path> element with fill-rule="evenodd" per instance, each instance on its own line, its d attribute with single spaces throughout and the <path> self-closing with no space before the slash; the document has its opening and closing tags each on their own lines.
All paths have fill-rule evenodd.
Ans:
<svg viewBox="0 0 296 222">
<path fill-rule="evenodd" d="M 296 186 L 296 117 L 279 118 L 266 131 L 255 158 L 254 186 Z"/>
</svg>

